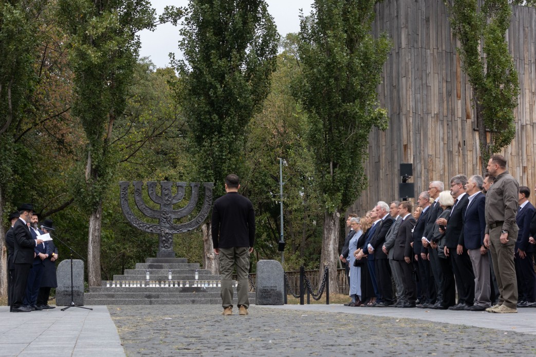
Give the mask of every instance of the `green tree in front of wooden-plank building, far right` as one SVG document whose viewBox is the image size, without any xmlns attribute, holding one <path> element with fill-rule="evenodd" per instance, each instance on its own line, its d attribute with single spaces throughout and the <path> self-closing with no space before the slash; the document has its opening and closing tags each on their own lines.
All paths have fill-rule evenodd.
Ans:
<svg viewBox="0 0 536 357">
<path fill-rule="evenodd" d="M 510 26 L 508 0 L 448 0 L 452 32 L 473 89 L 482 172 L 489 157 L 515 136 L 514 109 L 519 83 L 505 33 Z M 489 132 L 489 136 L 487 133 Z"/>
</svg>

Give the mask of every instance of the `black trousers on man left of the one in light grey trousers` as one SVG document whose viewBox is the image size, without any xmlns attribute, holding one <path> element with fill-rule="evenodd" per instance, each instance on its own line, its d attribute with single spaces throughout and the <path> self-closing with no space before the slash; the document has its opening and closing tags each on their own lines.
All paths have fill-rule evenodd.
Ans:
<svg viewBox="0 0 536 357">
<path fill-rule="evenodd" d="M 459 255 L 456 248 L 450 249 L 450 262 L 458 289 L 458 303 L 473 305 L 474 272 L 467 250 L 464 248 L 464 252 Z"/>
</svg>

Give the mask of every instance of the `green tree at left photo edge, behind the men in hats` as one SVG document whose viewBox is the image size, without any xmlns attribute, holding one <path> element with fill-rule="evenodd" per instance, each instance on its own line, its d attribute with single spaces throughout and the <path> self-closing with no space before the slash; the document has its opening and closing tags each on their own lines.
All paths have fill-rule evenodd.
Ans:
<svg viewBox="0 0 536 357">
<path fill-rule="evenodd" d="M 15 177 L 17 143 L 25 125 L 25 111 L 31 107 L 37 77 L 34 63 L 39 57 L 41 13 L 45 0 L 0 3 L 0 294 L 6 295 L 6 254 L 4 222 L 11 204 Z"/>
</svg>

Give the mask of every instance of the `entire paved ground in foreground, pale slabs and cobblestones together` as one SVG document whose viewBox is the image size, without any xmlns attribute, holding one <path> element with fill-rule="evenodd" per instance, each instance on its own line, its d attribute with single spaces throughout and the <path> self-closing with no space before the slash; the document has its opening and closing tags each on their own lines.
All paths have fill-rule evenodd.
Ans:
<svg viewBox="0 0 536 357">
<path fill-rule="evenodd" d="M 239 316 L 237 309 L 233 316 L 222 316 L 217 305 L 93 308 L 13 314 L 8 307 L 0 307 L 0 356 L 536 353 L 536 309 L 489 314 L 317 304 L 252 305 L 248 316 Z"/>
</svg>

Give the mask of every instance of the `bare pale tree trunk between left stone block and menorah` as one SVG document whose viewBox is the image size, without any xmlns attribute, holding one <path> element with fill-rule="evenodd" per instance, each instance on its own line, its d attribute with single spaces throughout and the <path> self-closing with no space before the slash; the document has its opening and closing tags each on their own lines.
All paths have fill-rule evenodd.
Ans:
<svg viewBox="0 0 536 357">
<path fill-rule="evenodd" d="M 101 286 L 101 226 L 102 202 L 90 215 L 90 229 L 87 237 L 87 280 L 90 286 Z"/>
</svg>

